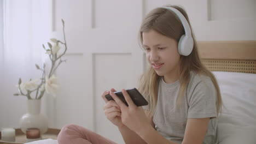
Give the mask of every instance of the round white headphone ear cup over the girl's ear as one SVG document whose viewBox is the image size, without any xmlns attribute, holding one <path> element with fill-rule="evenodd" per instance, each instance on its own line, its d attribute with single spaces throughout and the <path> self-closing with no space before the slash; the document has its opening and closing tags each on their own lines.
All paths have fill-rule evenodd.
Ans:
<svg viewBox="0 0 256 144">
<path fill-rule="evenodd" d="M 188 56 L 194 47 L 194 40 L 192 37 L 187 37 L 185 34 L 181 36 L 178 43 L 179 55 Z"/>
</svg>

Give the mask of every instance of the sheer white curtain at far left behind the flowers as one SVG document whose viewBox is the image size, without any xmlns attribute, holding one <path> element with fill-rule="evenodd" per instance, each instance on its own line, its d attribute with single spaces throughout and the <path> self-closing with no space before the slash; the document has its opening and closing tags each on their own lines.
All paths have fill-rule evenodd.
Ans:
<svg viewBox="0 0 256 144">
<path fill-rule="evenodd" d="M 19 118 L 26 112 L 26 97 L 14 96 L 18 80 L 38 79 L 42 73 L 42 44 L 49 39 L 49 1 L 0 0 L 3 7 L 1 39 L 0 128 L 19 127 Z M 1 16 L 0 16 L 1 17 Z M 1 43 L 1 40 L 4 43 Z"/>
</svg>

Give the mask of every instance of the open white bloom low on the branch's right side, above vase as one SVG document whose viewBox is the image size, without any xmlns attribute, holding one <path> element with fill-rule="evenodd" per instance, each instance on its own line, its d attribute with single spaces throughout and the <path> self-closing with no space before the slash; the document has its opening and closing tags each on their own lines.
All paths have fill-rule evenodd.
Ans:
<svg viewBox="0 0 256 144">
<path fill-rule="evenodd" d="M 53 97 L 56 97 L 56 92 L 59 88 L 59 83 L 57 83 L 57 77 L 55 75 L 52 75 L 49 79 L 48 77 L 45 77 L 45 91 Z"/>
</svg>

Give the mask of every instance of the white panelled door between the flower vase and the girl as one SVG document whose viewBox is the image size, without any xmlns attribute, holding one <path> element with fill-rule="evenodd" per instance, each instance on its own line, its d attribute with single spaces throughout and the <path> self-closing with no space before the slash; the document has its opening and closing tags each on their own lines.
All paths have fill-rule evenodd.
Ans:
<svg viewBox="0 0 256 144">
<path fill-rule="evenodd" d="M 68 51 L 57 76 L 61 91 L 48 98 L 53 127 L 78 124 L 118 143 L 117 127 L 103 113 L 101 93 L 137 87 L 143 71 L 138 45 L 143 1 L 53 0 L 53 37 L 62 38 L 65 20 Z M 111 133 L 109 133 L 111 131 Z"/>
</svg>

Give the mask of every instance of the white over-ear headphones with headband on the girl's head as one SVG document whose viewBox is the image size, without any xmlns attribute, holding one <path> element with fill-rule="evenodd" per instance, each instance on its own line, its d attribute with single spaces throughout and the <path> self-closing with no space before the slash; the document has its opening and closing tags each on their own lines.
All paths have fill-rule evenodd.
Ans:
<svg viewBox="0 0 256 144">
<path fill-rule="evenodd" d="M 179 20 L 181 20 L 185 30 L 185 34 L 182 35 L 178 41 L 178 52 L 179 52 L 179 55 L 188 56 L 192 52 L 194 47 L 194 40 L 191 35 L 191 29 L 190 29 L 189 23 L 179 10 L 172 7 L 164 7 L 164 8 L 173 11 L 178 16 Z"/>
</svg>

